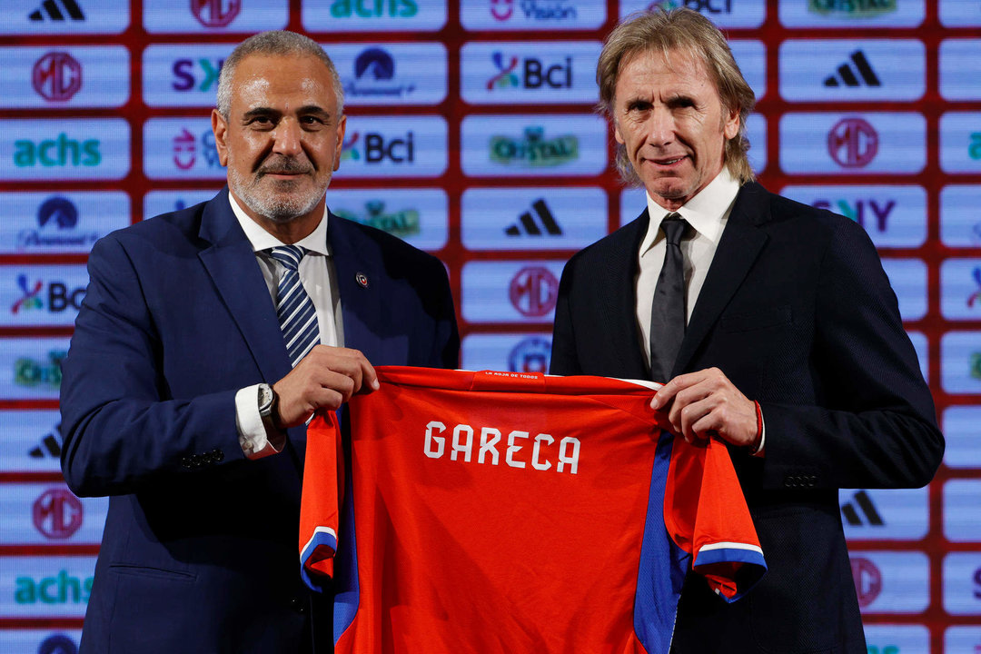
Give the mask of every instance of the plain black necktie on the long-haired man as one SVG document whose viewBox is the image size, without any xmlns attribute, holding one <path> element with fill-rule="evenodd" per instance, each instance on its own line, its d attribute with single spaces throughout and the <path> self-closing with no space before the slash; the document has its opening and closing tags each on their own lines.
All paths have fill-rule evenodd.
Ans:
<svg viewBox="0 0 981 654">
<path fill-rule="evenodd" d="M 667 238 L 664 265 L 654 287 L 650 305 L 650 377 L 668 381 L 685 337 L 685 255 L 681 239 L 688 223 L 678 214 L 661 221 Z"/>
</svg>

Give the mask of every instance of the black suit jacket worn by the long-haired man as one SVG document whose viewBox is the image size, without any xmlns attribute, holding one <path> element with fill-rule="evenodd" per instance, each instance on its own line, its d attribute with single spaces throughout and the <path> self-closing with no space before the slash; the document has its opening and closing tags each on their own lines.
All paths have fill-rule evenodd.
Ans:
<svg viewBox="0 0 981 654">
<path fill-rule="evenodd" d="M 647 225 L 645 211 L 566 265 L 553 374 L 649 375 L 635 310 Z M 838 489 L 922 486 L 944 439 L 864 230 L 745 184 L 673 375 L 710 367 L 762 407 L 765 457 L 730 453 L 769 571 L 732 605 L 689 575 L 673 651 L 865 654 Z"/>
</svg>

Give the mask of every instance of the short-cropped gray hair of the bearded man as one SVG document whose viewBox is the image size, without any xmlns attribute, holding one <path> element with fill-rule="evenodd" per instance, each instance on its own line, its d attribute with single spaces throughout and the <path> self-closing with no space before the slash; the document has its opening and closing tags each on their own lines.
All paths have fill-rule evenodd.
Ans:
<svg viewBox="0 0 981 654">
<path fill-rule="evenodd" d="M 232 111 L 232 77 L 235 75 L 235 69 L 243 59 L 256 54 L 308 56 L 319 59 L 327 67 L 331 74 L 331 81 L 334 83 L 334 92 L 337 96 L 337 115 L 340 116 L 344 113 L 344 89 L 340 85 L 340 76 L 337 75 L 334 62 L 324 52 L 324 48 L 308 36 L 297 34 L 294 31 L 277 29 L 249 36 L 232 50 L 232 54 L 222 64 L 222 72 L 218 76 L 218 98 L 215 106 L 218 113 L 226 121 L 229 120 L 229 114 Z M 288 71 L 284 71 L 284 75 L 288 75 Z"/>
</svg>

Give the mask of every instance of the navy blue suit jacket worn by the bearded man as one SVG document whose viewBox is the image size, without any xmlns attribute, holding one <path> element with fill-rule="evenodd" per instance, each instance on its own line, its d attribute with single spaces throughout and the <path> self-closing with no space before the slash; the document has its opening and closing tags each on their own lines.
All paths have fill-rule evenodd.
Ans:
<svg viewBox="0 0 981 654">
<path fill-rule="evenodd" d="M 455 367 L 439 261 L 330 216 L 345 345 L 374 365 Z M 92 249 L 62 382 L 62 468 L 109 495 L 81 651 L 296 652 L 330 598 L 299 577 L 305 428 L 248 461 L 235 392 L 290 370 L 273 300 L 223 190 Z M 356 276 L 367 277 L 367 286 Z"/>
</svg>

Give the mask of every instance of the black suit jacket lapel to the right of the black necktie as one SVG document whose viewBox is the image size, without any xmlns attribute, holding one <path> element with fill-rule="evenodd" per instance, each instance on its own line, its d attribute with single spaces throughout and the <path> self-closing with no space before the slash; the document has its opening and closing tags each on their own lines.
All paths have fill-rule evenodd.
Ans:
<svg viewBox="0 0 981 654">
<path fill-rule="evenodd" d="M 744 184 L 715 250 L 705 283 L 698 293 L 672 377 L 687 370 L 701 341 L 715 326 L 729 300 L 743 283 L 767 239 L 766 233 L 758 225 L 768 219 L 766 191 L 754 182 Z"/>
</svg>

